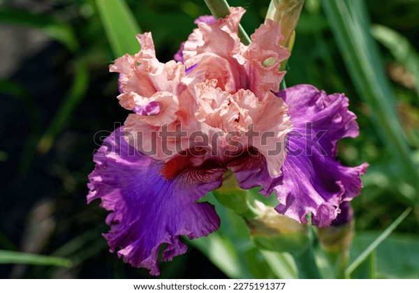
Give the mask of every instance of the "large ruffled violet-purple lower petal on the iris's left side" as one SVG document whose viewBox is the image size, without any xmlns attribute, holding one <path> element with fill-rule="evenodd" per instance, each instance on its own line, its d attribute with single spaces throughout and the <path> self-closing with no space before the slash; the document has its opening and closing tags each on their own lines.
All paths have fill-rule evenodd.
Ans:
<svg viewBox="0 0 419 293">
<path fill-rule="evenodd" d="M 118 256 L 125 262 L 159 275 L 163 243 L 162 260 L 172 260 L 186 252 L 179 236 L 194 239 L 218 229 L 214 206 L 196 200 L 221 186 L 225 169 L 186 166 L 166 179 L 163 161 L 138 153 L 123 135 L 122 128 L 115 130 L 95 154 L 87 201 L 100 198 L 101 206 L 111 211 L 106 218 L 111 229 L 104 234 L 110 250 L 120 248 Z"/>
</svg>

